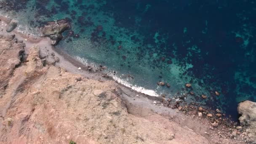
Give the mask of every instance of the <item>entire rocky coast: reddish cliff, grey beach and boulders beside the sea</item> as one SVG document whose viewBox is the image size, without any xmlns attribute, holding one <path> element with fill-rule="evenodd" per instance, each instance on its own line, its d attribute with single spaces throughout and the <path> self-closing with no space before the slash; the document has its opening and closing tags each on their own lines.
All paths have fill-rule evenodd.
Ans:
<svg viewBox="0 0 256 144">
<path fill-rule="evenodd" d="M 24 36 L 0 19 L 3 143 L 256 142 L 253 102 L 240 103 L 238 125 L 219 109 L 136 93 L 101 73 L 104 66 L 85 67 L 54 50 L 63 38 L 62 28 L 51 27 L 58 21 L 44 31 L 50 40 Z"/>
</svg>

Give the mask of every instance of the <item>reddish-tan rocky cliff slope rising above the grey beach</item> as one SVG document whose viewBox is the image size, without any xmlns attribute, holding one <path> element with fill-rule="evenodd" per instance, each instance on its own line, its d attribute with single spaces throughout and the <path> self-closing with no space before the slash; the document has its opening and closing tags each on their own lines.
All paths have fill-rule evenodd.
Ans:
<svg viewBox="0 0 256 144">
<path fill-rule="evenodd" d="M 163 116 L 129 114 L 117 83 L 48 65 L 39 51 L 0 36 L 0 143 L 209 143 Z"/>
</svg>

